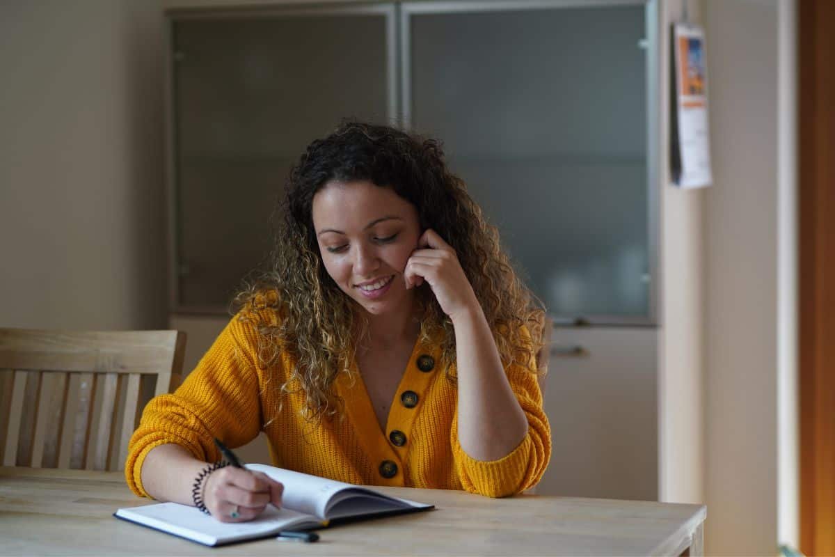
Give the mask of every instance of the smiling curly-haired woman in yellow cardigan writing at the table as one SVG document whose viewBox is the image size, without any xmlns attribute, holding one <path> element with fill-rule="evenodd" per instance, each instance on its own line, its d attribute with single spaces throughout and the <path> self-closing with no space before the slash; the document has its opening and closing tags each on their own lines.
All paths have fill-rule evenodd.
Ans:
<svg viewBox="0 0 835 557">
<path fill-rule="evenodd" d="M 261 431 L 276 466 L 501 497 L 550 457 L 543 312 L 437 142 L 348 123 L 291 173 L 271 271 L 174 394 L 145 408 L 135 493 L 224 521 L 281 484 L 220 459 Z"/>
</svg>

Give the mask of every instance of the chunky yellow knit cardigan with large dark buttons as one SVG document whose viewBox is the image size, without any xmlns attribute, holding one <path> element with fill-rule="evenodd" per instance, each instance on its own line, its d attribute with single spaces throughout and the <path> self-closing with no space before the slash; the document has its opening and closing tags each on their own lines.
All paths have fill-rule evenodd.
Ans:
<svg viewBox="0 0 835 557">
<path fill-rule="evenodd" d="M 267 318 L 277 320 L 275 314 Z M 382 432 L 359 373 L 337 376 L 337 394 L 345 401 L 342 418 L 307 423 L 301 416 L 303 394 L 279 390 L 295 362 L 282 353 L 270 367 L 261 367 L 258 334 L 251 319 L 234 317 L 180 388 L 146 406 L 124 467 L 134 493 L 147 496 L 141 470 L 154 447 L 176 443 L 195 458 L 214 462 L 220 453 L 213 438 L 235 448 L 261 431 L 274 465 L 350 484 L 503 497 L 534 486 L 548 465 L 549 423 L 537 377 L 524 367 L 512 365 L 506 372 L 528 418 L 528 433 L 504 458 L 483 462 L 458 443 L 457 386 L 438 364 L 437 346 L 416 343 Z"/>
</svg>

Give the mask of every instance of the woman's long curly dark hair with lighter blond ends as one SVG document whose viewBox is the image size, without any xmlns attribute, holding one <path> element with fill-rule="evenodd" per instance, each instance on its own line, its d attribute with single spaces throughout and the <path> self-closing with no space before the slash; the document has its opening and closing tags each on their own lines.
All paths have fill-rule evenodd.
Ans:
<svg viewBox="0 0 835 557">
<path fill-rule="evenodd" d="M 233 301 L 240 319 L 257 322 L 261 366 L 270 366 L 281 351 L 294 357 L 296 369 L 281 389 L 304 393 L 308 420 L 340 412 L 342 401 L 332 385 L 338 374 L 351 373 L 357 334 L 362 334 L 357 332 L 364 327 L 357 303 L 325 270 L 316 241 L 313 197 L 332 180 L 368 180 L 392 188 L 414 205 L 421 229 L 435 230 L 458 254 L 503 364 L 516 362 L 539 371 L 532 356 L 542 347 L 541 303 L 519 280 L 498 231 L 488 224 L 463 180 L 448 170 L 441 144 L 388 126 L 344 122 L 313 141 L 291 170 L 270 264 Z M 427 284 L 418 292 L 420 340 L 443 338 L 441 365 L 454 381 L 453 324 Z M 277 323 L 254 319 L 266 308 L 281 316 Z"/>
</svg>

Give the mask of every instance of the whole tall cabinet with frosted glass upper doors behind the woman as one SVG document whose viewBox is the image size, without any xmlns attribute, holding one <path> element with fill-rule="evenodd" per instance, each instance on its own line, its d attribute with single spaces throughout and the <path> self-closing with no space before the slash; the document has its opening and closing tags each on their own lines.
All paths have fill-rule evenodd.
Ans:
<svg viewBox="0 0 835 557">
<path fill-rule="evenodd" d="M 401 122 L 443 139 L 554 321 L 590 324 L 554 332 L 554 456 L 539 493 L 657 499 L 657 9 L 519 0 L 170 13 L 172 323 L 225 322 L 231 292 L 269 251 L 261 200 L 311 139 L 344 116 Z"/>
</svg>

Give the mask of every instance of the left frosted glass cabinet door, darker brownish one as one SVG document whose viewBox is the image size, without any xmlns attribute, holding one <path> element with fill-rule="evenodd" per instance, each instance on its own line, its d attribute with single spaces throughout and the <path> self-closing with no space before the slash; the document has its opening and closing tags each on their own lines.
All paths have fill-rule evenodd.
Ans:
<svg viewBox="0 0 835 557">
<path fill-rule="evenodd" d="M 392 118 L 393 29 L 392 6 L 173 17 L 175 306 L 225 308 L 306 144 Z"/>
</svg>

